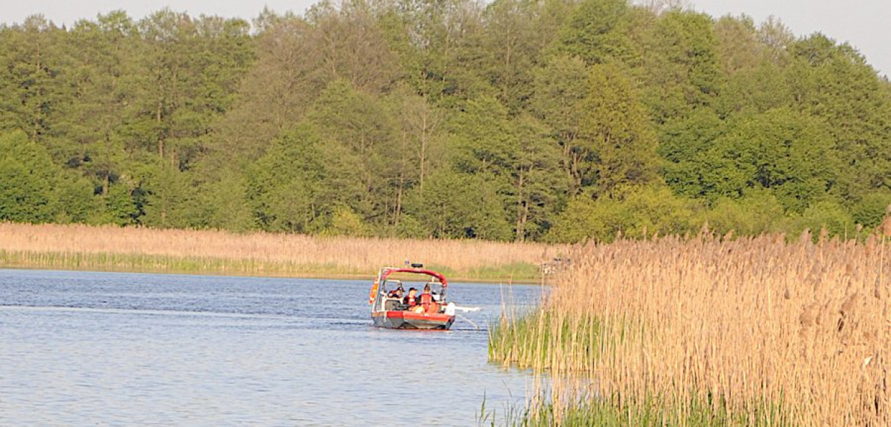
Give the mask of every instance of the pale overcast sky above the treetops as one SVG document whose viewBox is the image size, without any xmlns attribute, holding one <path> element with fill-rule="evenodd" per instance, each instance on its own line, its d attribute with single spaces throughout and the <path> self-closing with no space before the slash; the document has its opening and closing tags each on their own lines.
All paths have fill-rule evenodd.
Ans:
<svg viewBox="0 0 891 427">
<path fill-rule="evenodd" d="M 56 24 L 93 19 L 98 13 L 124 9 L 139 19 L 169 6 L 193 15 L 253 18 L 263 5 L 276 12 L 303 12 L 315 0 L 0 0 L 0 22 L 21 22 L 43 13 Z M 798 36 L 816 31 L 853 44 L 881 74 L 891 74 L 891 0 L 692 0 L 696 9 L 715 17 L 746 13 L 764 21 L 775 16 Z"/>
</svg>

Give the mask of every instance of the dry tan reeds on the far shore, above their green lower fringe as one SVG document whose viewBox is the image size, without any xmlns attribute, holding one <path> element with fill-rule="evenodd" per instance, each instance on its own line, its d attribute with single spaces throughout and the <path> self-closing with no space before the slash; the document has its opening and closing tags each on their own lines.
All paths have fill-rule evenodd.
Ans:
<svg viewBox="0 0 891 427">
<path fill-rule="evenodd" d="M 330 270 L 342 268 L 371 274 L 382 266 L 401 264 L 406 259 L 457 272 L 521 262 L 538 264 L 566 249 L 566 246 L 476 240 L 315 238 L 215 230 L 0 223 L 0 251 L 18 254 L 24 260 L 39 260 L 39 254 L 47 253 L 61 254 L 62 260 L 71 259 L 70 254 L 149 255 L 153 257 L 151 262 L 165 262 L 166 258 L 236 260 L 251 265 L 257 262 L 324 265 Z"/>
</svg>

